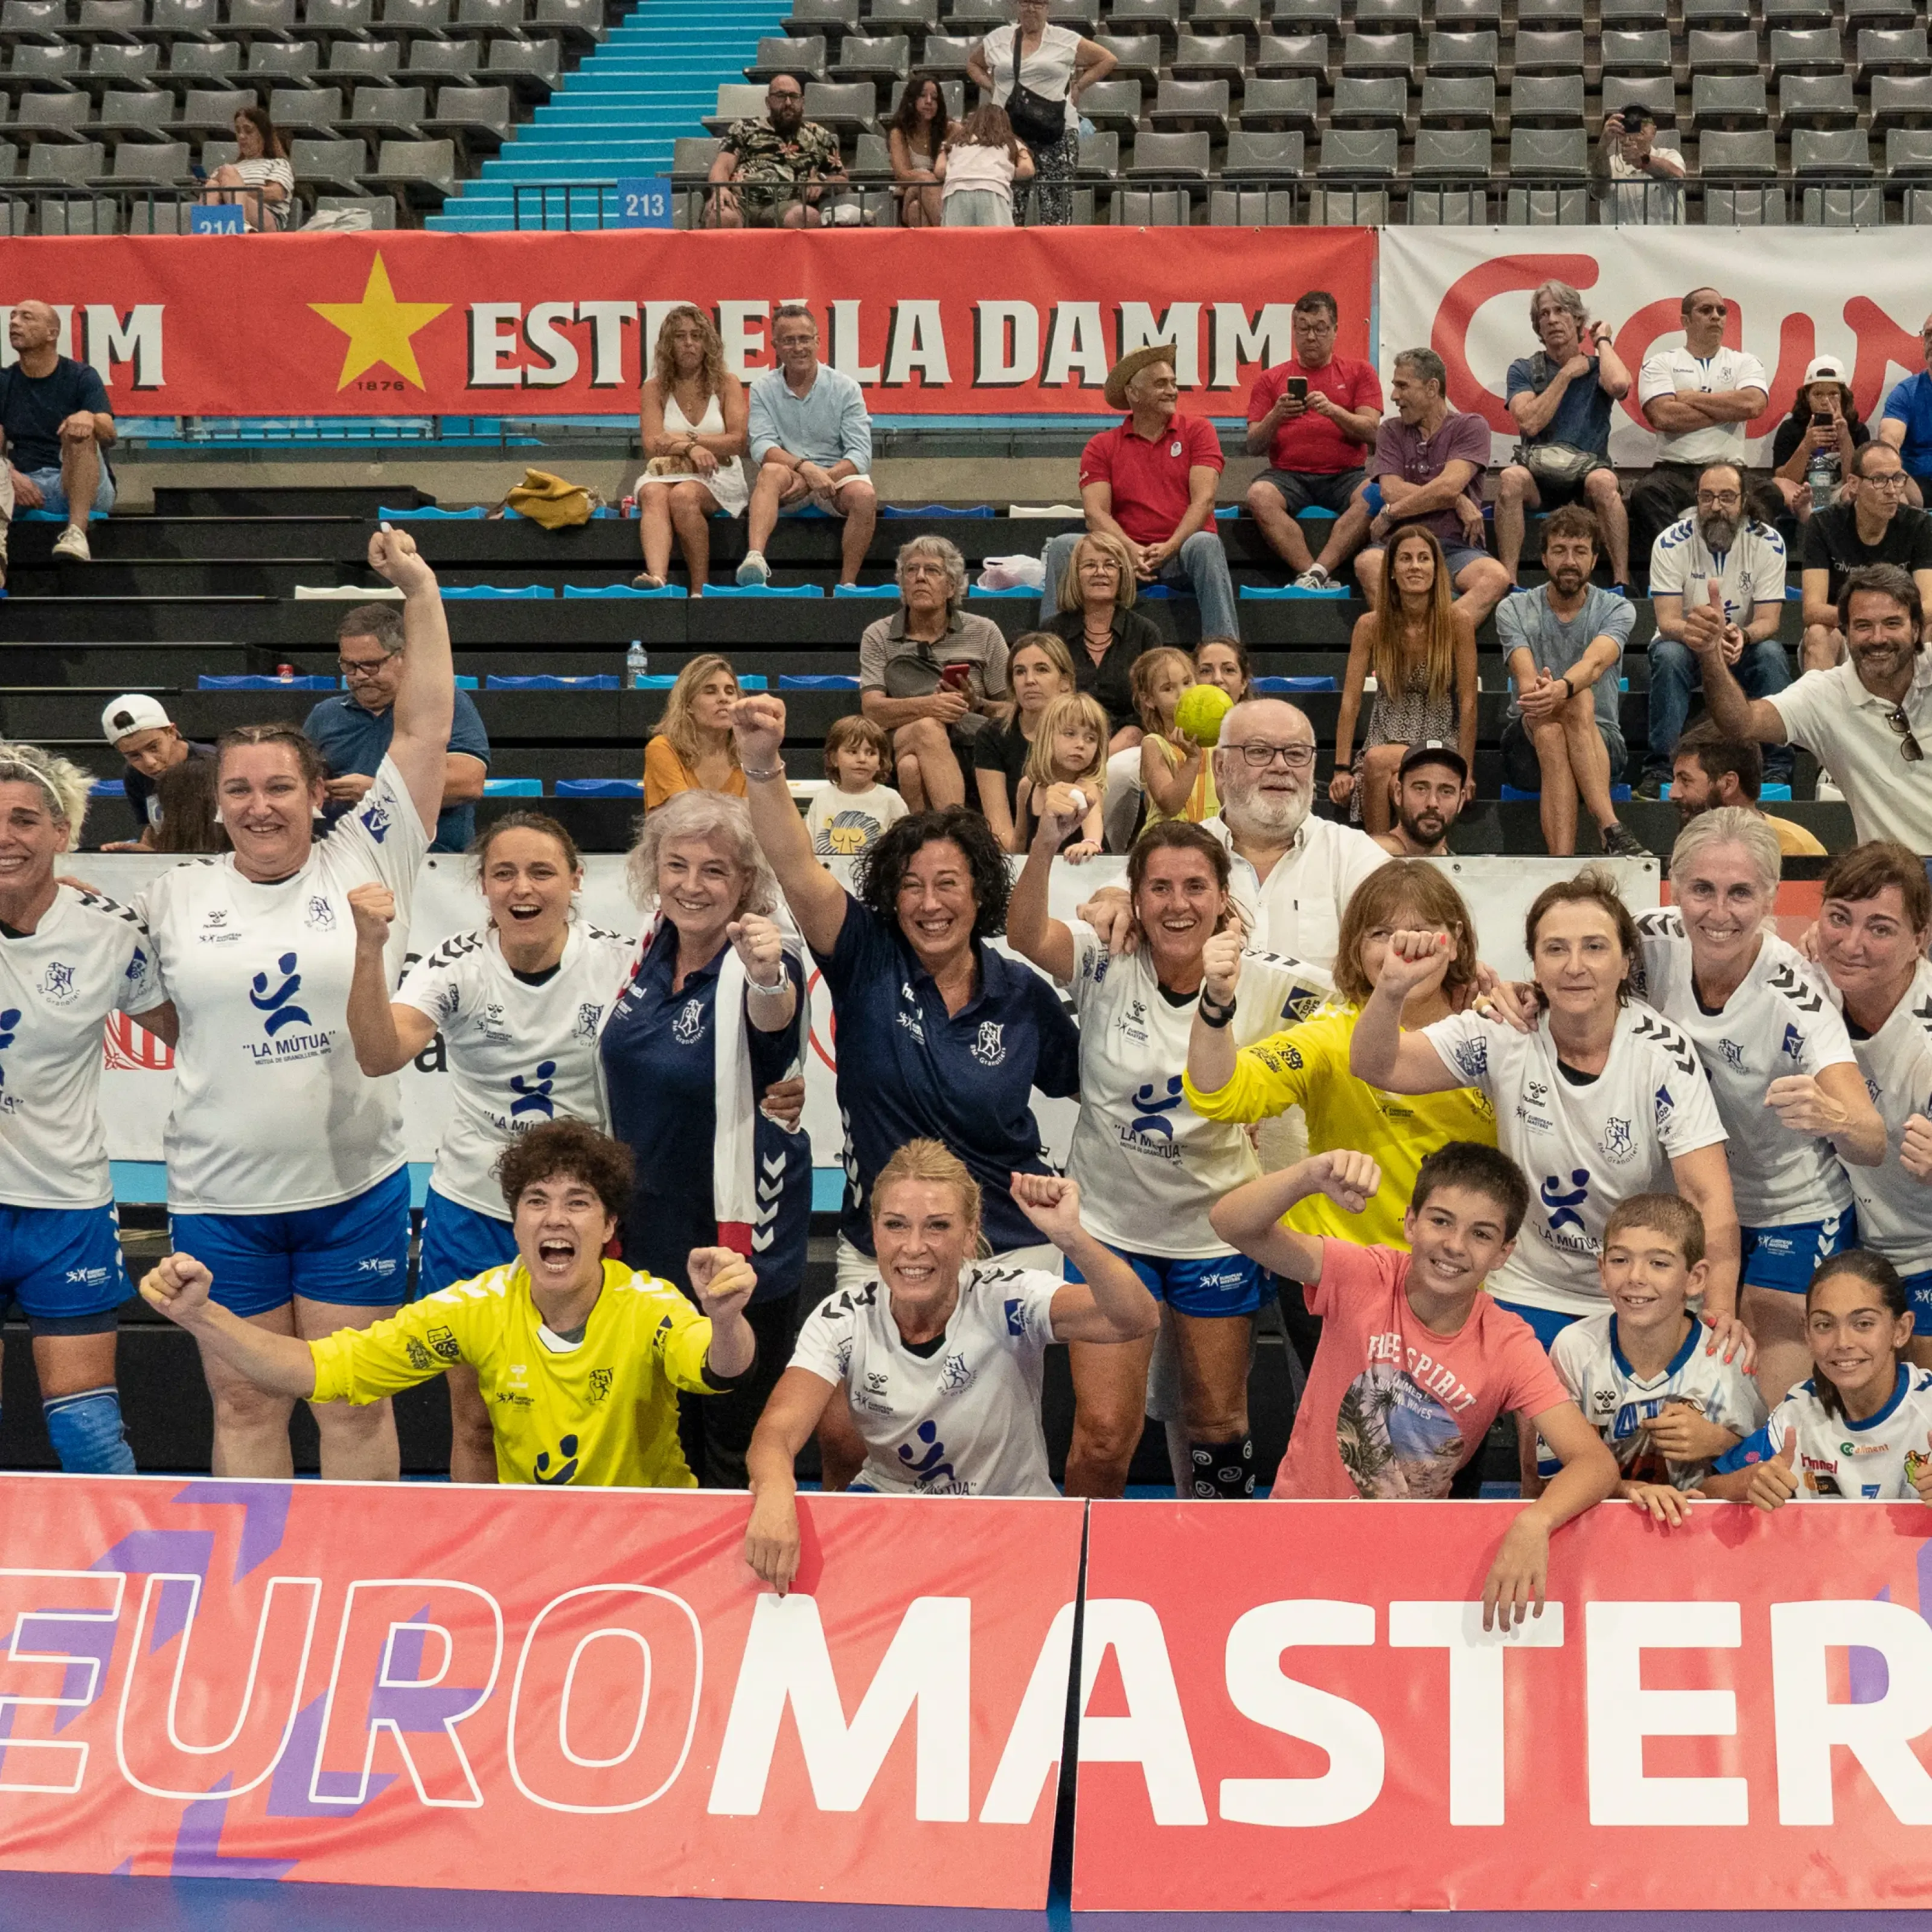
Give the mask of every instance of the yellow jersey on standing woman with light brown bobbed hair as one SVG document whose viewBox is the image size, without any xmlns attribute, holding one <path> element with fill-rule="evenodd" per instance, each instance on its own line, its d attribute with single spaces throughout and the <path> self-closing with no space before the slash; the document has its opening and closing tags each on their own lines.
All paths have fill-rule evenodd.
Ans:
<svg viewBox="0 0 1932 1932">
<path fill-rule="evenodd" d="M 1447 1094 L 1383 1094 L 1349 1072 L 1356 1007 L 1329 1007 L 1302 1026 L 1242 1047 L 1235 1076 L 1215 1094 L 1186 1082 L 1188 1103 L 1208 1121 L 1265 1121 L 1300 1107 L 1308 1117 L 1308 1151 L 1368 1153 L 1381 1165 L 1381 1188 L 1362 1213 L 1343 1213 L 1325 1194 L 1310 1194 L 1285 1215 L 1296 1235 L 1406 1248 L 1403 1213 L 1416 1190 L 1416 1169 L 1445 1140 L 1495 1146 L 1495 1109 L 1476 1088 Z"/>
</svg>

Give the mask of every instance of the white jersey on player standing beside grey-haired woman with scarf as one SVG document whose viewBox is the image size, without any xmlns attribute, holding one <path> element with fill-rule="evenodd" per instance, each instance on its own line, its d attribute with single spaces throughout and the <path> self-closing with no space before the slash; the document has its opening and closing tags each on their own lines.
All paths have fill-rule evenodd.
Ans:
<svg viewBox="0 0 1932 1932">
<path fill-rule="evenodd" d="M 504 964 L 491 925 L 444 939 L 404 974 L 396 999 L 437 1022 L 450 1066 L 439 1194 L 506 1221 L 495 1167 L 518 1134 L 545 1121 L 609 1130 L 597 1036 L 636 956 L 636 939 L 576 920 L 556 972 L 531 985 Z"/>
</svg>

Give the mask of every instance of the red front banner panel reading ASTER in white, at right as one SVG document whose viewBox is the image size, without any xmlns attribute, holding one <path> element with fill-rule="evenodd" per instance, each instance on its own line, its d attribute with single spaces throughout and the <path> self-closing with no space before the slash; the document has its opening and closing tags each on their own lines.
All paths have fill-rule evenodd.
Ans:
<svg viewBox="0 0 1932 1932">
<path fill-rule="evenodd" d="M 1932 1905 L 1932 1509 L 1094 1503 L 1074 1909 Z"/>
</svg>

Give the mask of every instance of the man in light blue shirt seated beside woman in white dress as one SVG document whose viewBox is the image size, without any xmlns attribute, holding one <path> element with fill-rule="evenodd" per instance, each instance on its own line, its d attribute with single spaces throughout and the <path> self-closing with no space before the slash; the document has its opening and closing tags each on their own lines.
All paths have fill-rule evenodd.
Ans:
<svg viewBox="0 0 1932 1932">
<path fill-rule="evenodd" d="M 819 325 L 800 301 L 773 313 L 771 352 L 777 367 L 752 383 L 748 427 L 757 481 L 738 582 L 769 583 L 765 545 L 779 514 L 815 504 L 844 518 L 838 582 L 858 583 L 879 520 L 866 392 L 842 369 L 819 361 Z"/>
</svg>

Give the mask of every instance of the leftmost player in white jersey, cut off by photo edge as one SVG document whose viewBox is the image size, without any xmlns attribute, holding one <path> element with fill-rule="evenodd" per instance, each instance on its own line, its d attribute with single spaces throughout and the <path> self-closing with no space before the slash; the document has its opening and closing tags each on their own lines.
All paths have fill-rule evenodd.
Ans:
<svg viewBox="0 0 1932 1932">
<path fill-rule="evenodd" d="M 128 1273 L 100 1030 L 116 1010 L 156 1022 L 160 981 L 133 912 L 54 879 L 87 784 L 64 757 L 0 744 L 0 1316 L 27 1318 L 60 1466 L 102 1476 L 133 1474 L 133 1451 L 114 1383 Z"/>
</svg>

